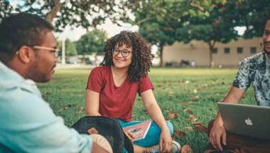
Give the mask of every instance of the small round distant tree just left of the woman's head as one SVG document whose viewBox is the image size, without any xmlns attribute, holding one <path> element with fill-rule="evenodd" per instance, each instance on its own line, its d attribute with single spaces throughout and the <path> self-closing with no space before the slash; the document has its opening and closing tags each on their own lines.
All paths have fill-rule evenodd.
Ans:
<svg viewBox="0 0 270 153">
<path fill-rule="evenodd" d="M 82 35 L 76 42 L 77 52 L 80 55 L 95 54 L 95 64 L 97 64 L 97 56 L 103 55 L 104 43 L 107 41 L 107 33 L 105 31 L 94 28 Z"/>
</svg>

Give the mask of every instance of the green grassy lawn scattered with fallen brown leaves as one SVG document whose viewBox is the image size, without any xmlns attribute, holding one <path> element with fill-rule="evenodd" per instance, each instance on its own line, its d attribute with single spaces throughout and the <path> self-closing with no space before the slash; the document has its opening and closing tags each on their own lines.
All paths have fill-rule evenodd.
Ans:
<svg viewBox="0 0 270 153">
<path fill-rule="evenodd" d="M 68 126 L 85 115 L 85 87 L 89 73 L 90 70 L 57 70 L 50 83 L 38 84 L 43 98 Z M 237 69 L 151 69 L 149 77 L 155 88 L 153 93 L 166 120 L 178 130 L 173 137 L 181 146 L 190 144 L 198 153 L 208 148 L 207 134 L 201 132 L 202 126 L 207 127 L 207 123 L 215 118 L 216 102 L 227 95 L 236 73 Z M 255 105 L 252 88 L 247 90 L 240 103 Z M 170 117 L 170 114 L 177 117 Z M 149 116 L 137 96 L 133 120 L 147 119 Z M 191 124 L 199 121 L 203 125 L 197 128 Z"/>
</svg>

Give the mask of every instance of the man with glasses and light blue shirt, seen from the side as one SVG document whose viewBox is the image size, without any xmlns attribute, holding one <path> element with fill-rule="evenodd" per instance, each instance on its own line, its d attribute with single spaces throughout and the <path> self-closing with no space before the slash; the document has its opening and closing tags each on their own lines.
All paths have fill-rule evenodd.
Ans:
<svg viewBox="0 0 270 153">
<path fill-rule="evenodd" d="M 57 61 L 52 31 L 33 14 L 0 23 L 0 152 L 112 152 L 101 135 L 66 127 L 41 97 L 35 82 L 48 82 Z"/>
</svg>

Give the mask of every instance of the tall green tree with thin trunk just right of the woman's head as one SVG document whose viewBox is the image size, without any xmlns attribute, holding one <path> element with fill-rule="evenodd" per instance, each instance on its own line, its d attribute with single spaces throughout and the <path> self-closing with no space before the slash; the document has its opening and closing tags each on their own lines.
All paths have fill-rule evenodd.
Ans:
<svg viewBox="0 0 270 153">
<path fill-rule="evenodd" d="M 161 58 L 160 66 L 163 66 L 163 46 L 172 45 L 177 40 L 175 31 L 183 26 L 182 18 L 187 14 L 191 16 L 205 16 L 205 8 L 211 0 L 195 1 L 141 1 L 133 6 L 131 13 L 135 20 L 123 18 L 125 22 L 139 26 L 141 36 L 158 46 Z M 222 1 L 222 0 L 217 0 Z M 129 3 L 127 1 L 126 3 Z M 196 14 L 194 14 L 196 12 Z"/>
</svg>

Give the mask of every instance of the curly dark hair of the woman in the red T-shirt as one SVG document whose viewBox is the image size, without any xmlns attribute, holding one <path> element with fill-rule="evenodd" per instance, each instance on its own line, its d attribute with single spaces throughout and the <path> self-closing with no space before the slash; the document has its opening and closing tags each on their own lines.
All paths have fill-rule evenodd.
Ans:
<svg viewBox="0 0 270 153">
<path fill-rule="evenodd" d="M 112 49 L 118 44 L 131 47 L 133 57 L 127 75 L 131 82 L 138 82 L 148 75 L 152 66 L 152 59 L 154 58 L 151 53 L 151 45 L 144 38 L 141 38 L 138 33 L 131 31 L 121 31 L 119 34 L 109 38 L 104 46 L 103 53 L 104 59 L 100 65 L 114 65 L 112 62 Z"/>
</svg>

